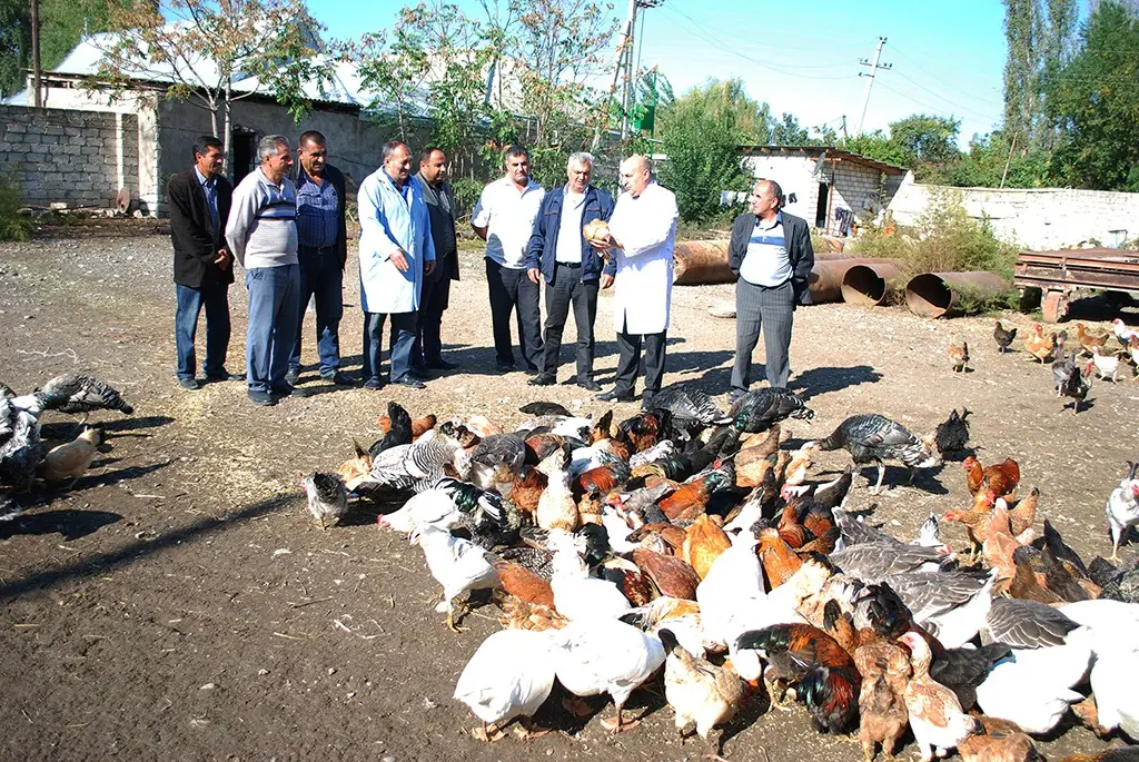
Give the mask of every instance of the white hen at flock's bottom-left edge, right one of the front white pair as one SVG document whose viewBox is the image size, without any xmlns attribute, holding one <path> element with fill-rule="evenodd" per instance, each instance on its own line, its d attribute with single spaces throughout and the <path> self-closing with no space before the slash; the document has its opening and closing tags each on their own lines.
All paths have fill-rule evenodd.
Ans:
<svg viewBox="0 0 1139 762">
<path fill-rule="evenodd" d="M 611 731 L 638 724 L 624 720 L 629 695 L 664 664 L 664 646 L 655 637 L 617 620 L 571 622 L 549 631 L 558 681 L 575 696 L 608 694 L 617 715 L 601 724 Z"/>
</svg>

